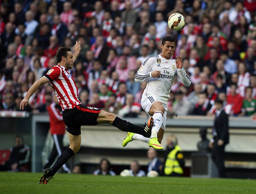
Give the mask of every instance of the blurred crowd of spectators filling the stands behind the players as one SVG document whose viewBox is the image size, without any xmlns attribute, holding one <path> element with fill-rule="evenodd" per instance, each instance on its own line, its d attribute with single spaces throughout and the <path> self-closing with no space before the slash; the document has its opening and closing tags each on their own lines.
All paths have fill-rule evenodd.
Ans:
<svg viewBox="0 0 256 194">
<path fill-rule="evenodd" d="M 172 13 L 185 16 L 179 32 Z M 20 111 L 32 83 L 56 65 L 61 46 L 82 47 L 71 70 L 83 105 L 137 117 L 146 83 L 134 75 L 147 56 L 161 53 L 161 39 L 176 38 L 191 86 L 174 79 L 168 115 L 213 115 L 214 100 L 227 114 L 256 112 L 256 1 L 222 0 L 2 0 L 0 110 Z M 45 84 L 25 111 L 45 112 L 53 89 Z"/>
</svg>

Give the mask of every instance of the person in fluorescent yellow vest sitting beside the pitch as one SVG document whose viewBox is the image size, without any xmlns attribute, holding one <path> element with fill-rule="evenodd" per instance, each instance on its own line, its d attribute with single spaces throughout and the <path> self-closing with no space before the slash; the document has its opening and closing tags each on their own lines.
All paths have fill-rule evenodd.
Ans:
<svg viewBox="0 0 256 194">
<path fill-rule="evenodd" d="M 174 135 L 167 137 L 167 147 L 165 154 L 165 176 L 182 176 L 184 167 L 184 155 L 178 146 L 178 139 Z"/>
</svg>

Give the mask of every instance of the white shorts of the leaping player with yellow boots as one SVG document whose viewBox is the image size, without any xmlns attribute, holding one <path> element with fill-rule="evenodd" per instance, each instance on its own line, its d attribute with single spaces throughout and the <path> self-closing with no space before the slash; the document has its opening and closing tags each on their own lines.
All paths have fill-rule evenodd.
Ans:
<svg viewBox="0 0 256 194">
<path fill-rule="evenodd" d="M 149 115 L 148 112 L 149 112 L 149 110 L 150 110 L 150 108 L 151 108 L 151 106 L 154 102 L 161 102 L 161 101 L 155 96 L 148 96 L 147 98 L 142 99 L 142 103 L 141 103 L 142 108 L 148 114 L 149 117 L 152 116 L 152 115 Z M 164 116 L 162 117 L 161 128 L 165 130 L 166 120 L 167 120 L 166 114 L 167 114 L 167 111 L 168 111 L 168 107 L 167 107 L 167 104 L 164 104 L 164 103 L 162 103 L 162 106 L 164 106 L 164 108 L 165 108 L 165 113 L 164 113 Z"/>
</svg>

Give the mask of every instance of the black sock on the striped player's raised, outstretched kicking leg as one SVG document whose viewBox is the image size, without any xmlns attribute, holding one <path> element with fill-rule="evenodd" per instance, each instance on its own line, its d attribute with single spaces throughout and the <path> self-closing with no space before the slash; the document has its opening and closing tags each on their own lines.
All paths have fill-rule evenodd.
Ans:
<svg viewBox="0 0 256 194">
<path fill-rule="evenodd" d="M 127 122 L 126 120 L 123 120 L 119 117 L 115 117 L 112 125 L 119 128 L 122 131 L 134 132 L 135 134 L 141 134 L 143 136 L 145 135 L 145 131 L 143 127 L 133 125 L 132 123 Z"/>
</svg>

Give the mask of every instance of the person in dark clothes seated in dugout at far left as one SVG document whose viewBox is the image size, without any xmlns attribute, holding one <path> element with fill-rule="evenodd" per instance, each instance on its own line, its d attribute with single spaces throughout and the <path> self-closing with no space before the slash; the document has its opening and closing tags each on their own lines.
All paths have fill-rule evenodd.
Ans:
<svg viewBox="0 0 256 194">
<path fill-rule="evenodd" d="M 31 149 L 24 144 L 24 138 L 15 137 L 16 146 L 10 148 L 10 157 L 7 162 L 0 165 L 0 170 L 10 172 L 29 172 Z"/>
</svg>

